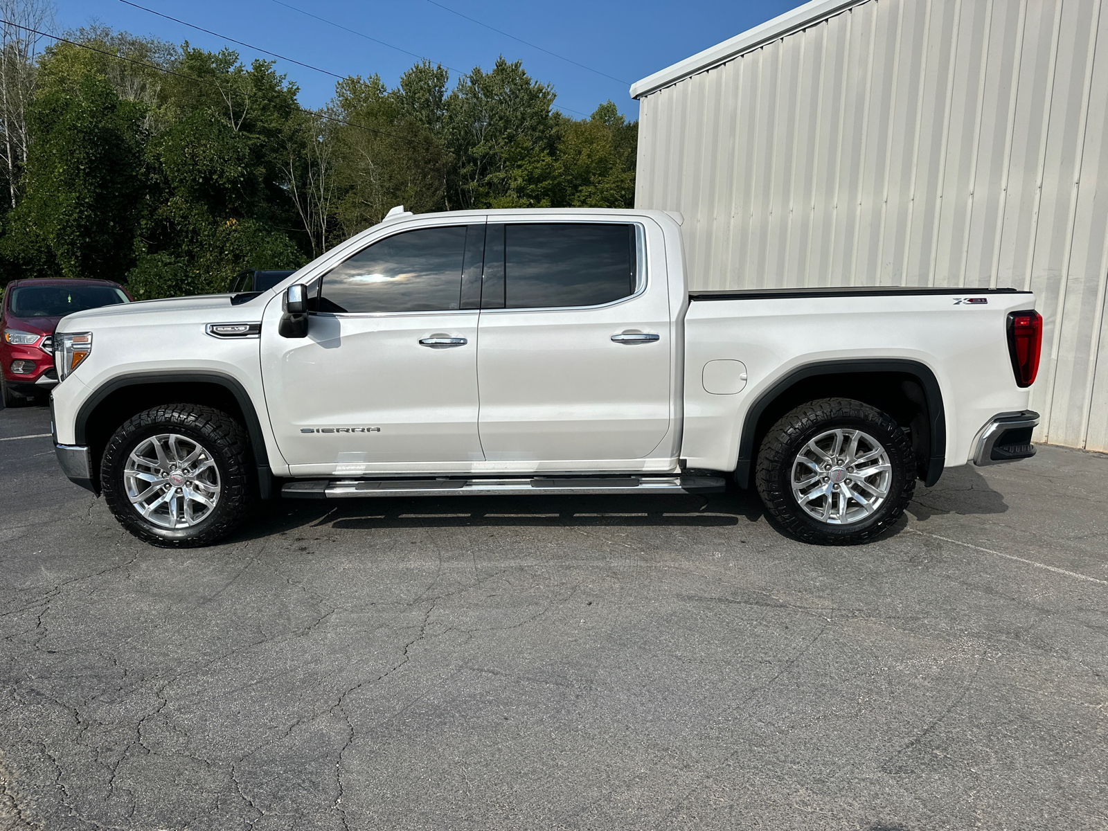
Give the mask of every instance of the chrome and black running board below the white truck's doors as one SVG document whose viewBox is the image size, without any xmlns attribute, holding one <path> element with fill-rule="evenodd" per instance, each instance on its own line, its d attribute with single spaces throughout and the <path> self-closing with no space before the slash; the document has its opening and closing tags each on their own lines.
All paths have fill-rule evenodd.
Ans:
<svg viewBox="0 0 1108 831">
<path fill-rule="evenodd" d="M 529 479 L 310 479 L 286 483 L 281 496 L 500 496 L 526 494 L 722 493 L 722 476 L 548 476 Z"/>
</svg>

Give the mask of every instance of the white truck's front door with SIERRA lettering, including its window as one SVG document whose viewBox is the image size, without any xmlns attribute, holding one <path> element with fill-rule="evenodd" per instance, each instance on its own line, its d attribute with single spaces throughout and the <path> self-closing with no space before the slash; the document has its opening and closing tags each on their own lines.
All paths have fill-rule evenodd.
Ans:
<svg viewBox="0 0 1108 831">
<path fill-rule="evenodd" d="M 280 300 L 269 304 L 263 380 L 293 473 L 466 470 L 483 459 L 479 312 L 461 297 L 483 237 L 473 224 L 378 239 L 322 276 L 306 338 L 280 337 Z"/>
</svg>

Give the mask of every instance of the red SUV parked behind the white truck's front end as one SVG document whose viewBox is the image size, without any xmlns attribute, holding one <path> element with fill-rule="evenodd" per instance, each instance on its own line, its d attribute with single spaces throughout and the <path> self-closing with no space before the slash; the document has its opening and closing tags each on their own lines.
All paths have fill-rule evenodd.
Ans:
<svg viewBox="0 0 1108 831">
<path fill-rule="evenodd" d="M 4 407 L 50 392 L 58 383 L 53 334 L 66 315 L 99 306 L 130 302 L 111 280 L 12 280 L 0 310 L 0 392 Z"/>
</svg>

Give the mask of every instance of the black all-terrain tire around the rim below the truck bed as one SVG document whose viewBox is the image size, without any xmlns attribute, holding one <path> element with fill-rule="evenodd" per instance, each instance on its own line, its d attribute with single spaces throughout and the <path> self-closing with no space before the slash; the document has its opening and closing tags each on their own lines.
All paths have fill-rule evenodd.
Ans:
<svg viewBox="0 0 1108 831">
<path fill-rule="evenodd" d="M 891 469 L 891 475 L 884 483 L 888 495 L 883 502 L 871 514 L 841 524 L 813 516 L 801 506 L 793 491 L 794 466 L 798 471 L 807 470 L 803 463 L 798 462 L 801 452 L 818 459 L 808 450 L 809 442 L 835 430 L 848 433 L 860 431 L 875 440 L 888 454 Z M 915 468 L 912 443 L 890 416 L 861 401 L 823 398 L 787 412 L 770 428 L 758 451 L 756 481 L 770 519 L 787 533 L 815 545 L 856 545 L 881 535 L 900 519 L 915 490 Z M 800 475 L 803 473 L 797 478 Z M 838 475 L 854 474 L 840 470 Z M 817 486 L 820 486 L 819 483 Z M 854 488 L 870 496 L 869 492 L 861 491 L 856 485 Z M 829 495 L 827 499 L 831 501 L 839 496 Z M 854 511 L 863 510 L 861 505 L 854 507 Z"/>
</svg>

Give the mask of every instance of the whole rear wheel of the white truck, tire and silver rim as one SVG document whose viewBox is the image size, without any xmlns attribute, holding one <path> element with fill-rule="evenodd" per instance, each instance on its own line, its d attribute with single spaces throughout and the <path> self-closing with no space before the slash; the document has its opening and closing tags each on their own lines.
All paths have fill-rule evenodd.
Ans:
<svg viewBox="0 0 1108 831">
<path fill-rule="evenodd" d="M 915 454 L 888 414 L 861 401 L 825 398 L 770 428 L 757 483 L 767 512 L 797 538 L 855 545 L 904 512 L 915 490 Z"/>
</svg>

